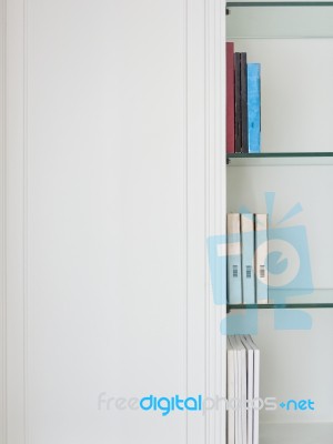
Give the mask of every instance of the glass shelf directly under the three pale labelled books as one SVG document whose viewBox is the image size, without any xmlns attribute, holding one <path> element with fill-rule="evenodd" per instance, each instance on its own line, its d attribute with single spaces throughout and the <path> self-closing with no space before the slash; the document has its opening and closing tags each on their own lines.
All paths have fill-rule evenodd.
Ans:
<svg viewBox="0 0 333 444">
<path fill-rule="evenodd" d="M 311 294 L 289 296 L 283 291 L 270 291 L 268 304 L 228 304 L 231 310 L 333 309 L 333 289 L 313 290 Z"/>
</svg>

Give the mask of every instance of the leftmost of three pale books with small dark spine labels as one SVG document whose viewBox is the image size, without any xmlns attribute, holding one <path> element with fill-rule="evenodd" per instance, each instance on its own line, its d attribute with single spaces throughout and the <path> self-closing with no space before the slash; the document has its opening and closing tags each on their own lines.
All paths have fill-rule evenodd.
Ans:
<svg viewBox="0 0 333 444">
<path fill-rule="evenodd" d="M 242 303 L 242 266 L 241 266 L 241 215 L 226 214 L 226 253 L 228 253 L 228 302 Z"/>
</svg>

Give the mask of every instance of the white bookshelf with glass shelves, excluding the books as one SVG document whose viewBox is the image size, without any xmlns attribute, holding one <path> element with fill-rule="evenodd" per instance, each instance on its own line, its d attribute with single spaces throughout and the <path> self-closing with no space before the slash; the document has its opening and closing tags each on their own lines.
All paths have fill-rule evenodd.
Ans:
<svg viewBox="0 0 333 444">
<path fill-rule="evenodd" d="M 230 304 L 226 312 L 230 319 L 258 311 L 261 396 L 306 393 L 316 402 L 313 414 L 261 412 L 260 444 L 331 443 L 333 2 L 226 2 L 226 41 L 262 67 L 262 152 L 226 154 L 226 211 L 274 210 L 276 224 L 301 202 L 294 221 L 306 228 L 313 279 L 309 292 L 305 284 L 300 294 L 270 289 L 268 304 Z M 274 316 L 297 311 L 311 327 L 293 330 L 291 316 L 289 329 L 276 329 Z"/>
</svg>

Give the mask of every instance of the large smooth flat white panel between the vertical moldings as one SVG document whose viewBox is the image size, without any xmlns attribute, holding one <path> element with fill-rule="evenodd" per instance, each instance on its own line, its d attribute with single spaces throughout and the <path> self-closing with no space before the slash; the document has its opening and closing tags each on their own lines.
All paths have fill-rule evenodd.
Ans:
<svg viewBox="0 0 333 444">
<path fill-rule="evenodd" d="M 98 410 L 184 391 L 182 8 L 29 3 L 33 443 L 184 442 L 184 415 Z"/>
</svg>

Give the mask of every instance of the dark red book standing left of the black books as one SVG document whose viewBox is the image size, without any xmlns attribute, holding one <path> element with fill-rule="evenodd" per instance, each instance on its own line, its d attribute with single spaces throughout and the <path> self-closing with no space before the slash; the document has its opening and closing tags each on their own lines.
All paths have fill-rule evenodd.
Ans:
<svg viewBox="0 0 333 444">
<path fill-rule="evenodd" d="M 234 153 L 234 67 L 233 42 L 226 43 L 226 152 Z"/>
</svg>

